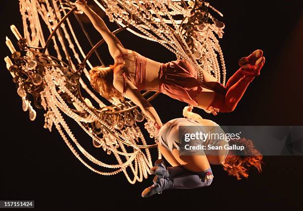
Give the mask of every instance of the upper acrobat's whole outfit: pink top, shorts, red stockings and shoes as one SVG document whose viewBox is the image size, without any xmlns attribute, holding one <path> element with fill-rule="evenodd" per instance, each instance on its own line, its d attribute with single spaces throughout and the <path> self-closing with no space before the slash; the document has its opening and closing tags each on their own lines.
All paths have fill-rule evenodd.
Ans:
<svg viewBox="0 0 303 211">
<path fill-rule="evenodd" d="M 131 51 L 132 52 L 132 51 Z M 123 83 L 123 93 L 126 91 L 126 80 L 132 82 L 131 86 L 137 87 L 140 90 L 158 91 L 169 97 L 186 102 L 192 106 L 198 106 L 194 100 L 201 92 L 203 87 L 214 91 L 214 99 L 208 108 L 207 112 L 212 112 L 214 115 L 217 112 L 231 112 L 235 109 L 238 102 L 243 97 L 247 87 L 253 81 L 255 76 L 260 74 L 260 70 L 265 63 L 265 57 L 262 56 L 263 52 L 260 50 L 255 51 L 248 57 L 244 57 L 246 64 L 236 71 L 226 83 L 226 86 L 215 82 L 215 86 L 209 88 L 202 84 L 197 79 L 197 71 L 186 60 L 176 60 L 168 63 L 161 63 L 158 74 L 154 74 L 155 70 L 146 72 L 147 58 L 139 53 L 122 53 L 115 57 L 117 64 L 123 64 L 125 60 L 130 60 L 131 65 L 135 66 L 135 72 L 125 70 L 126 68 L 116 68 L 114 77 L 114 84 Z M 129 56 L 134 56 L 133 60 Z M 241 61 L 240 60 L 240 61 Z M 149 62 L 155 62 L 149 59 Z M 135 64 L 134 64 L 135 63 Z M 160 63 L 155 62 L 158 65 Z M 129 67 L 129 66 L 125 66 Z M 123 75 L 123 78 L 121 77 Z M 155 79 L 158 81 L 157 88 L 151 82 Z M 149 81 L 149 83 L 146 83 Z M 134 89 L 134 87 L 132 87 Z M 145 102 L 146 100 L 137 92 L 132 96 L 134 103 Z M 138 104 L 137 104 L 138 105 Z"/>
</svg>

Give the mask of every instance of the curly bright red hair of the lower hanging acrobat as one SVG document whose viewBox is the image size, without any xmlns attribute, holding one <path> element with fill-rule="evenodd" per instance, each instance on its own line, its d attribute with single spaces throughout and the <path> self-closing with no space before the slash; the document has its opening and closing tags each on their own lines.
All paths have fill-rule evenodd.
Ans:
<svg viewBox="0 0 303 211">
<path fill-rule="evenodd" d="M 237 177 L 237 180 L 249 176 L 248 170 L 254 166 L 258 172 L 262 171 L 262 158 L 263 156 L 257 151 L 251 140 L 245 138 L 232 139 L 230 145 L 244 146 L 244 152 L 233 152 L 234 155 L 227 156 L 224 160 L 223 168 L 231 176 Z"/>
</svg>

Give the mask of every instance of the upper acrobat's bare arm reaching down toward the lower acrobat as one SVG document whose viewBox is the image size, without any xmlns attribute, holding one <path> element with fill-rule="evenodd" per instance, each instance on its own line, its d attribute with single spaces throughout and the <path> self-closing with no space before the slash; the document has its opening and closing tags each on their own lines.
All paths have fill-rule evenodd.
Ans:
<svg viewBox="0 0 303 211">
<path fill-rule="evenodd" d="M 125 83 L 125 87 L 123 88 L 123 84 Z M 142 112 L 147 115 L 153 122 L 157 123 L 159 126 L 162 126 L 162 122 L 160 120 L 160 117 L 158 116 L 155 109 L 152 107 L 152 105 L 141 95 L 140 91 L 137 89 L 137 87 L 129 80 L 123 80 L 121 78 L 120 80 L 114 80 L 113 83 L 114 87 L 121 93 L 123 93 L 124 89 L 124 96 L 129 98 L 139 106 L 142 110 Z"/>
</svg>

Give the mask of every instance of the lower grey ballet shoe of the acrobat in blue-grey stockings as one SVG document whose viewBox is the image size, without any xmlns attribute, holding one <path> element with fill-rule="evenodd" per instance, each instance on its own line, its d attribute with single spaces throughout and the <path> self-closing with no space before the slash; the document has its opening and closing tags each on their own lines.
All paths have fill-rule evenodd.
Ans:
<svg viewBox="0 0 303 211">
<path fill-rule="evenodd" d="M 165 178 L 159 178 L 158 176 L 154 176 L 152 182 L 153 185 L 146 188 L 142 192 L 141 196 L 143 198 L 151 197 L 152 195 L 155 194 L 161 194 L 162 191 L 171 189 L 173 187 L 171 180 Z"/>
</svg>

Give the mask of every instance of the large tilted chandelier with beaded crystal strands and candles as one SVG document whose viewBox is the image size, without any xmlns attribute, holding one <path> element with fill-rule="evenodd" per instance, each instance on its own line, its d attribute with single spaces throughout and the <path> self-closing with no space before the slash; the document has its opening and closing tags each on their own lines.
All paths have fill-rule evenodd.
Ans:
<svg viewBox="0 0 303 211">
<path fill-rule="evenodd" d="M 157 42 L 177 58 L 190 62 L 201 81 L 202 71 L 206 71 L 225 84 L 225 63 L 217 39 L 223 35 L 224 24 L 212 16 L 212 12 L 222 14 L 209 3 L 94 1 L 119 26 L 113 33 L 128 30 Z M 97 52 L 104 40 L 93 45 L 80 21 L 81 14 L 69 0 L 19 0 L 19 3 L 24 36 L 11 26 L 18 51 L 6 37 L 11 56 L 4 60 L 22 99 L 22 109 L 29 112 L 32 121 L 37 115 L 34 107 L 43 109 L 44 128 L 51 131 L 54 127 L 73 155 L 92 171 L 101 175 L 123 172 L 131 184 L 143 181 L 152 167 L 150 150 L 157 150 L 158 158 L 161 157 L 154 141 L 148 144 L 155 138 L 152 121 L 128 99 L 105 100 L 89 85 L 87 68 L 93 68 L 92 56 L 104 65 Z M 87 53 L 75 25 L 91 46 Z M 157 96 L 149 91 L 142 94 L 148 101 Z M 105 163 L 82 147 L 66 122 L 68 118 L 87 134 L 94 147 L 115 158 L 116 163 Z"/>
</svg>

